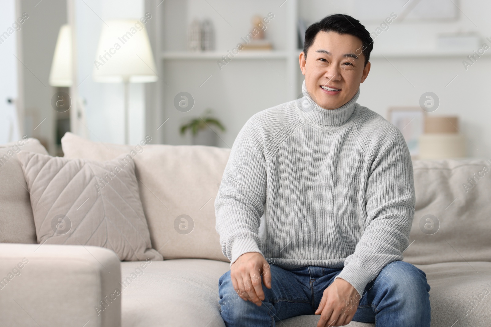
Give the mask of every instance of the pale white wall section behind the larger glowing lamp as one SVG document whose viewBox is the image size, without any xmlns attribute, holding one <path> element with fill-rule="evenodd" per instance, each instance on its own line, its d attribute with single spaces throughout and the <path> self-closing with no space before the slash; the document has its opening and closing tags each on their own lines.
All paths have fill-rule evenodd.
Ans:
<svg viewBox="0 0 491 327">
<path fill-rule="evenodd" d="M 86 102 L 87 135 L 92 141 L 124 143 L 123 84 L 96 83 L 92 79 L 103 21 L 139 19 L 144 15 L 143 8 L 143 0 L 76 0 L 76 84 L 80 83 L 79 95 Z M 130 84 L 130 144 L 144 137 L 144 106 L 144 85 Z"/>
</svg>

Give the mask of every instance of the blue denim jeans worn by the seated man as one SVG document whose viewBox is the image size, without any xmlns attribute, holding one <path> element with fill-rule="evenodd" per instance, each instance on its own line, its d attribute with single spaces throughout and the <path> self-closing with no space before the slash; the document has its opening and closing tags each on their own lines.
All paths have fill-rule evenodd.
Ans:
<svg viewBox="0 0 491 327">
<path fill-rule="evenodd" d="M 218 303 L 225 326 L 275 326 L 276 321 L 312 315 L 324 290 L 342 269 L 318 266 L 283 269 L 276 265 L 270 268 L 272 288 L 262 284 L 265 299 L 261 306 L 239 297 L 230 270 L 218 279 Z M 377 327 L 429 327 L 429 291 L 422 270 L 404 261 L 393 261 L 366 285 L 353 321 L 375 323 Z"/>
</svg>

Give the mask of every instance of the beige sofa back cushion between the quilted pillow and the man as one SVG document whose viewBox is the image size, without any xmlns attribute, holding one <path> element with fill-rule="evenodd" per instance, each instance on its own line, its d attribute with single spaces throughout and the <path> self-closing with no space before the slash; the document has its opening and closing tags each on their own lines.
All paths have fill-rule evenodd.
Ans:
<svg viewBox="0 0 491 327">
<path fill-rule="evenodd" d="M 150 139 L 122 146 L 66 133 L 61 146 L 67 158 L 103 161 L 127 154 L 134 159 L 152 244 L 165 259 L 229 261 L 221 252 L 215 229 L 214 201 L 230 149 L 150 145 L 146 142 Z"/>
</svg>

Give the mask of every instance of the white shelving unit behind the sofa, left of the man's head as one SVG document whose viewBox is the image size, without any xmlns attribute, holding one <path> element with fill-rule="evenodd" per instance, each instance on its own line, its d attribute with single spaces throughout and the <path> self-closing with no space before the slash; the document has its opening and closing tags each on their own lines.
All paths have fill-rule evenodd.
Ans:
<svg viewBox="0 0 491 327">
<path fill-rule="evenodd" d="M 210 107 L 227 129 L 219 134 L 218 146 L 231 147 L 250 116 L 299 96 L 303 75 L 298 64 L 297 0 L 250 0 L 247 4 L 227 0 L 161 1 L 146 2 L 146 11 L 152 13 L 147 27 L 159 75 L 157 85 L 147 94 L 147 101 L 155 108 L 147 119 L 147 129 L 160 126 L 158 142 L 190 144 L 189 135 L 180 136 L 179 126 Z M 272 41 L 273 50 L 241 50 L 220 69 L 217 61 L 238 43 L 244 43 L 242 37 L 252 29 L 252 16 L 266 17 L 270 12 L 274 18 L 266 25 L 265 35 Z M 186 49 L 186 31 L 194 18 L 213 22 L 216 50 Z M 174 107 L 174 97 L 180 92 L 188 92 L 194 99 L 189 112 Z"/>
</svg>

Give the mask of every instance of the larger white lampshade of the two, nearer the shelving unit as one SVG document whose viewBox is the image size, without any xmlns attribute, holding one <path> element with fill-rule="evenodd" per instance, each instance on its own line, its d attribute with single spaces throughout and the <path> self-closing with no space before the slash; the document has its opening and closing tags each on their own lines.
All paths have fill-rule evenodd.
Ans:
<svg viewBox="0 0 491 327">
<path fill-rule="evenodd" d="M 157 81 L 145 25 L 137 20 L 109 20 L 103 25 L 94 61 L 96 82 Z"/>
</svg>

